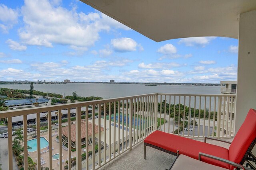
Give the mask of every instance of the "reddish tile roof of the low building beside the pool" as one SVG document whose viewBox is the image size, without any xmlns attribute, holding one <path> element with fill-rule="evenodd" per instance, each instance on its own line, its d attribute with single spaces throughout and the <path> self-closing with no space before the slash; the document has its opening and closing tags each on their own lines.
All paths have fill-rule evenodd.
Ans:
<svg viewBox="0 0 256 170">
<path fill-rule="evenodd" d="M 76 141 L 76 124 L 70 125 L 71 129 L 71 141 Z M 101 127 L 100 131 L 104 131 L 104 128 Z M 94 133 L 98 133 L 98 125 L 94 126 Z M 62 135 L 68 137 L 68 126 L 62 127 Z M 92 135 L 92 123 L 88 122 L 88 136 Z M 81 123 L 81 139 L 86 137 L 86 121 Z"/>
</svg>

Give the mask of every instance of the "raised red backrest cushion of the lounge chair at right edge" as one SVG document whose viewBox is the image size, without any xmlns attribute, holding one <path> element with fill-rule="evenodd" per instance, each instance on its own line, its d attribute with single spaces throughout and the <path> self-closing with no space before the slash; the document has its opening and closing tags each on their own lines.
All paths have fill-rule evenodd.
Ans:
<svg viewBox="0 0 256 170">
<path fill-rule="evenodd" d="M 232 144 L 229 147 L 229 160 L 240 163 L 250 147 L 253 140 L 256 138 L 256 110 L 250 109 L 244 123 L 238 130 Z M 230 168 L 233 166 L 230 165 Z"/>
</svg>

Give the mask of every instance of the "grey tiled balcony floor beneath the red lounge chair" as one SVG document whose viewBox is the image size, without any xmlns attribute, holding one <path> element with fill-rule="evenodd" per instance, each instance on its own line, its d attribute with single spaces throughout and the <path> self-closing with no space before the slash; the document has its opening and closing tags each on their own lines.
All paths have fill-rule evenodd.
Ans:
<svg viewBox="0 0 256 170">
<path fill-rule="evenodd" d="M 203 141 L 197 139 L 198 141 Z M 226 139 L 232 141 L 232 139 Z M 218 141 L 207 141 L 208 143 L 218 145 L 221 147 L 229 147 L 229 144 Z M 128 150 L 112 162 L 104 165 L 100 170 L 164 170 L 169 168 L 175 156 L 147 147 L 147 159 L 144 159 L 144 143 L 141 142 L 132 150 Z"/>
</svg>

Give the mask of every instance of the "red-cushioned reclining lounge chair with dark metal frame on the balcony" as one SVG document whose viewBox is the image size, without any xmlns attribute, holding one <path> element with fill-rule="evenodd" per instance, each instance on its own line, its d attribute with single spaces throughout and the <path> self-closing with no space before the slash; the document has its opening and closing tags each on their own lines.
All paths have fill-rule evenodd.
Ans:
<svg viewBox="0 0 256 170">
<path fill-rule="evenodd" d="M 229 149 L 219 147 L 206 143 L 206 139 L 212 139 L 231 144 Z M 208 164 L 220 166 L 222 168 L 233 170 L 234 166 L 216 160 L 213 157 L 222 158 L 222 160 L 228 160 L 239 164 L 244 164 L 245 161 L 253 165 L 248 160 L 255 160 L 255 156 L 252 155 L 251 150 L 256 143 L 256 110 L 250 109 L 244 123 L 240 127 L 232 143 L 228 141 L 222 141 L 220 139 L 205 137 L 204 143 L 186 137 L 180 137 L 165 133 L 162 131 L 154 131 L 144 140 L 144 158 L 146 159 L 146 146 L 153 147 L 164 152 L 178 155 L 184 154 L 194 159 L 199 159 Z M 200 154 L 199 154 L 200 153 Z M 207 154 L 207 156 L 206 156 Z M 210 158 L 208 155 L 212 156 Z M 250 156 L 250 157 L 248 157 Z M 177 158 L 177 157 L 176 157 Z M 254 167 L 255 168 L 255 167 Z M 256 168 L 255 168 L 256 169 Z"/>
</svg>

